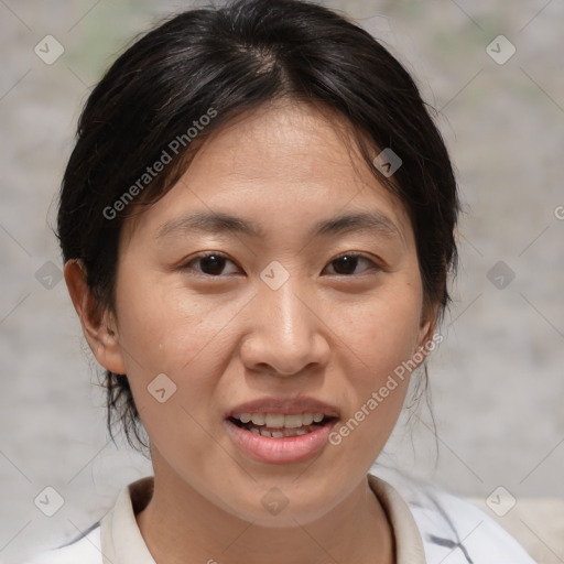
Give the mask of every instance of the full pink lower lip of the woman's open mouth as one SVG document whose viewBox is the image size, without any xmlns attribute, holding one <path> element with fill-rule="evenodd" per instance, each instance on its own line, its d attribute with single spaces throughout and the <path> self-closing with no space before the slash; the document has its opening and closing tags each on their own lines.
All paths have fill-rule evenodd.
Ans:
<svg viewBox="0 0 564 564">
<path fill-rule="evenodd" d="M 329 421 L 305 435 L 271 438 L 246 431 L 232 421 L 225 420 L 225 423 L 235 444 L 243 453 L 269 464 L 292 464 L 310 458 L 327 445 L 330 430 L 335 426 L 335 421 Z"/>
</svg>

